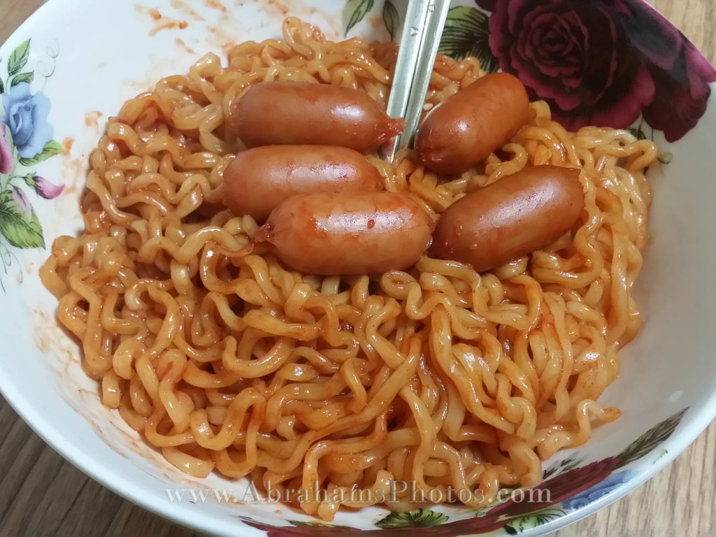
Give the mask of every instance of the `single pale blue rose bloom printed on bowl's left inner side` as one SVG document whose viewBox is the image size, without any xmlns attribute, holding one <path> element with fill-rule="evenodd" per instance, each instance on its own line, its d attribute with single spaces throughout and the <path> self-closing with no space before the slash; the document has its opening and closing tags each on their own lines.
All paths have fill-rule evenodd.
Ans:
<svg viewBox="0 0 716 537">
<path fill-rule="evenodd" d="M 2 122 L 10 129 L 12 141 L 22 158 L 42 153 L 52 140 L 52 125 L 47 122 L 49 99 L 42 92 L 32 95 L 30 84 L 20 82 L 2 97 L 5 114 Z"/>
</svg>

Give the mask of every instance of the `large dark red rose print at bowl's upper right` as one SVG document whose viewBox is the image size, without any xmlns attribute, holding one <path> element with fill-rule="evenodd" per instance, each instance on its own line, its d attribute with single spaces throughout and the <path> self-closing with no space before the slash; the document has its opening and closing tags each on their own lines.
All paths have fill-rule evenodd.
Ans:
<svg viewBox="0 0 716 537">
<path fill-rule="evenodd" d="M 569 130 L 644 115 L 669 142 L 704 114 L 716 69 L 642 0 L 478 0 L 490 49 Z"/>
</svg>

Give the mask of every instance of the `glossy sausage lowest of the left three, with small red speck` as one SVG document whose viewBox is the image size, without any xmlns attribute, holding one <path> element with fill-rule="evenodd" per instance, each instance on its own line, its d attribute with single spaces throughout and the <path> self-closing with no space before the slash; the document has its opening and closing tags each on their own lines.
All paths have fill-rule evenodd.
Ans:
<svg viewBox="0 0 716 537">
<path fill-rule="evenodd" d="M 258 231 L 286 266 L 308 274 L 370 274 L 405 269 L 430 246 L 432 220 L 392 192 L 297 195 Z"/>
</svg>

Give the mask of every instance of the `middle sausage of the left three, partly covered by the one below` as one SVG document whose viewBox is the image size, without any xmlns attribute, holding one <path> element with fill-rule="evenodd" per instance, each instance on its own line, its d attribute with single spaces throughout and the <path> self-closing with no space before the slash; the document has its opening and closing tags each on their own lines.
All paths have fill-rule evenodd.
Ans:
<svg viewBox="0 0 716 537">
<path fill-rule="evenodd" d="M 259 223 L 291 195 L 375 192 L 384 185 L 363 155 L 326 145 L 265 145 L 242 151 L 226 167 L 223 183 L 224 205 Z"/>
</svg>

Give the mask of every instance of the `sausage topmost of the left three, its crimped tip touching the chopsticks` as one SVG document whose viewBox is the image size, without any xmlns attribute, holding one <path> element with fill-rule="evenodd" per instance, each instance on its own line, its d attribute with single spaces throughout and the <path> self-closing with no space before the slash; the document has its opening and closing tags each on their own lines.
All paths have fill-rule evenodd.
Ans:
<svg viewBox="0 0 716 537">
<path fill-rule="evenodd" d="M 360 153 L 405 129 L 359 89 L 304 82 L 259 82 L 234 107 L 230 119 L 248 147 L 340 145 Z"/>
</svg>

